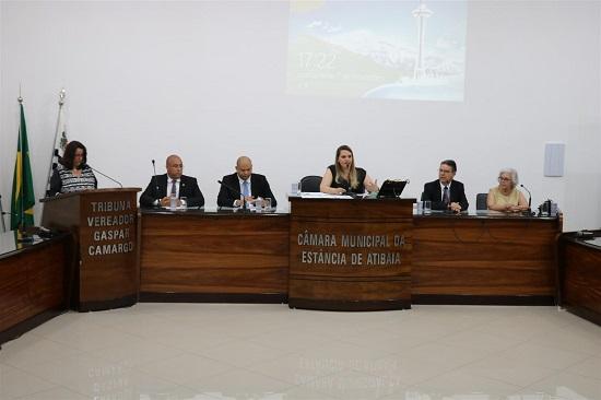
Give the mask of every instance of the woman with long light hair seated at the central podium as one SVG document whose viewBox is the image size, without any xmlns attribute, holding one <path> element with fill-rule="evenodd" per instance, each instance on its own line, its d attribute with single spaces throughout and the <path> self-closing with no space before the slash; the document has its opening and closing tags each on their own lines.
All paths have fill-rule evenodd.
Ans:
<svg viewBox="0 0 601 400">
<path fill-rule="evenodd" d="M 366 189 L 378 191 L 377 181 L 365 169 L 355 167 L 353 151 L 345 144 L 341 145 L 335 151 L 335 164 L 330 165 L 321 178 L 319 190 L 330 195 L 363 195 Z"/>
</svg>

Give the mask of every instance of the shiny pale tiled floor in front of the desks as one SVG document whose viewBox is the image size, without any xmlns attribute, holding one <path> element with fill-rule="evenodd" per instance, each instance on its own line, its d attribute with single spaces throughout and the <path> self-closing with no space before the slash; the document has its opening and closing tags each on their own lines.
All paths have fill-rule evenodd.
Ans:
<svg viewBox="0 0 601 400">
<path fill-rule="evenodd" d="M 555 307 L 139 304 L 4 344 L 0 399 L 601 400 L 601 327 Z"/>
</svg>

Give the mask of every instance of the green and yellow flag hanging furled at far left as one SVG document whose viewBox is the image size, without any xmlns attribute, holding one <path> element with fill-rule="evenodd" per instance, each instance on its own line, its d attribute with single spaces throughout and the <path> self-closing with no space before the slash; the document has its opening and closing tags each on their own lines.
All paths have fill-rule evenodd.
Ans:
<svg viewBox="0 0 601 400">
<path fill-rule="evenodd" d="M 21 106 L 21 123 L 19 126 L 19 144 L 12 178 L 11 230 L 34 226 L 34 181 L 30 164 L 30 145 L 27 144 L 27 128 L 25 111 Z"/>
</svg>

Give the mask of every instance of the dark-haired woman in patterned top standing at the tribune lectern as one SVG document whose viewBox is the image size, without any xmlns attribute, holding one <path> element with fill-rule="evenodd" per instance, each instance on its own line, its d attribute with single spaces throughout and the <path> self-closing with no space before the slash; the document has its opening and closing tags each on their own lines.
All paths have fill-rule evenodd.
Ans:
<svg viewBox="0 0 601 400">
<path fill-rule="evenodd" d="M 85 145 L 75 140 L 69 142 L 50 178 L 48 196 L 96 189 L 98 181 L 86 162 Z"/>
</svg>

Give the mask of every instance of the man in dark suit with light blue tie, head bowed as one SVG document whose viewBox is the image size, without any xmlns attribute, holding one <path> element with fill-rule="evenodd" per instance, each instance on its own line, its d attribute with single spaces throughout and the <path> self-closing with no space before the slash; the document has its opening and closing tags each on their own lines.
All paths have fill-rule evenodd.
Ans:
<svg viewBox="0 0 601 400">
<path fill-rule="evenodd" d="M 267 178 L 260 174 L 252 174 L 252 162 L 247 156 L 238 157 L 236 172 L 224 176 L 222 181 L 217 196 L 219 207 L 241 207 L 244 202 L 240 195 L 244 195 L 247 202 L 257 198 L 270 198 L 271 207 L 278 205 Z"/>
</svg>

